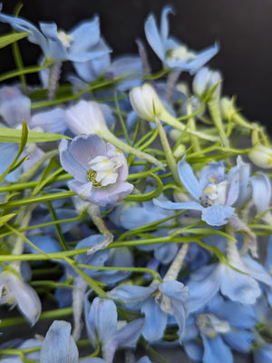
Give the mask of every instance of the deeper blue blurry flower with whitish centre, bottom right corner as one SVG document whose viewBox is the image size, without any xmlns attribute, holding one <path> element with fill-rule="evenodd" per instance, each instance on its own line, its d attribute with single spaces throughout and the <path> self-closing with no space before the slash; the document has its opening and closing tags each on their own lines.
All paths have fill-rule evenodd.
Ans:
<svg viewBox="0 0 272 363">
<path fill-rule="evenodd" d="M 189 358 L 204 363 L 232 363 L 232 348 L 248 353 L 257 316 L 252 306 L 217 295 L 202 309 L 189 314 L 182 345 Z M 201 343 L 199 343 L 201 338 Z"/>
</svg>

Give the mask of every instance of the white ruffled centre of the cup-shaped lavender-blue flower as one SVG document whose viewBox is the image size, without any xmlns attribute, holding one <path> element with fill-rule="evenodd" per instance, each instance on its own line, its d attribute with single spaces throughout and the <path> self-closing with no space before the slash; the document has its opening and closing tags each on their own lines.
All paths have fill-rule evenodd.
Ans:
<svg viewBox="0 0 272 363">
<path fill-rule="evenodd" d="M 112 158 L 96 156 L 89 165 L 91 166 L 87 172 L 89 182 L 92 182 L 93 188 L 102 188 L 117 181 L 117 171 L 122 162 L 118 156 Z"/>
</svg>

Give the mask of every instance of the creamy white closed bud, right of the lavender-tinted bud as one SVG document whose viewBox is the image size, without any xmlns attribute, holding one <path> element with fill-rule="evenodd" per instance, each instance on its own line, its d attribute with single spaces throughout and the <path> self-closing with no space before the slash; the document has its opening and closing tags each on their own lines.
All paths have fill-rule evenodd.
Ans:
<svg viewBox="0 0 272 363">
<path fill-rule="evenodd" d="M 148 83 L 144 83 L 141 87 L 132 88 L 130 101 L 135 113 L 144 120 L 154 121 L 156 116 L 160 116 L 166 111 L 160 97 Z"/>
</svg>

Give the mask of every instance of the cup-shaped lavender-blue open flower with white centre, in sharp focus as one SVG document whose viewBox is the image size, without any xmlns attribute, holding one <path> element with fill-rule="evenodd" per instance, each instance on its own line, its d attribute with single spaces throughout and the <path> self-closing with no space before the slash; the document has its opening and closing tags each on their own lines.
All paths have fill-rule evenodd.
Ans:
<svg viewBox="0 0 272 363">
<path fill-rule="evenodd" d="M 69 188 L 83 200 L 104 206 L 131 193 L 132 184 L 125 182 L 128 166 L 123 153 L 102 137 L 91 133 L 76 136 L 70 143 L 63 139 L 59 150 L 63 169 L 74 177 Z"/>
</svg>

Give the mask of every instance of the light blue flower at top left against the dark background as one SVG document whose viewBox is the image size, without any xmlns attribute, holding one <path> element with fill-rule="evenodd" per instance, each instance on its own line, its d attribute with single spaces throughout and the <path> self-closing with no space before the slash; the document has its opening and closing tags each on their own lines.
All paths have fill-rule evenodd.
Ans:
<svg viewBox="0 0 272 363">
<path fill-rule="evenodd" d="M 10 24 L 17 32 L 30 33 L 28 40 L 39 44 L 45 58 L 53 61 L 86 62 L 111 51 L 106 44 L 100 43 L 100 24 L 97 15 L 92 20 L 83 21 L 75 26 L 69 33 L 58 30 L 54 23 L 40 23 L 40 31 L 19 16 L 3 13 L 0 13 L 0 21 Z"/>
</svg>

